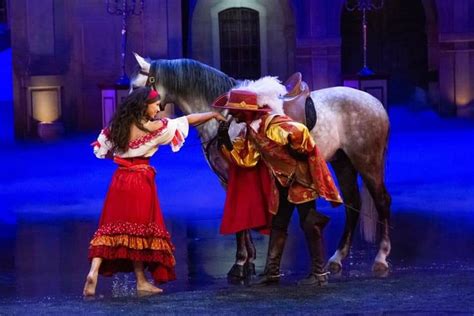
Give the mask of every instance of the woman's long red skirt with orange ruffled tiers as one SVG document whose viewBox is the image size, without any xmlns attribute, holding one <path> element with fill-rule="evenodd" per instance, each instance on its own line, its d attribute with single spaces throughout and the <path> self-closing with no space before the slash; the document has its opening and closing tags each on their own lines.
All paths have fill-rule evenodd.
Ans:
<svg viewBox="0 0 474 316">
<path fill-rule="evenodd" d="M 161 214 L 154 168 L 144 158 L 116 162 L 89 259 L 103 258 L 99 273 L 105 276 L 132 272 L 133 261 L 142 261 L 155 282 L 176 279 L 174 246 Z"/>
</svg>

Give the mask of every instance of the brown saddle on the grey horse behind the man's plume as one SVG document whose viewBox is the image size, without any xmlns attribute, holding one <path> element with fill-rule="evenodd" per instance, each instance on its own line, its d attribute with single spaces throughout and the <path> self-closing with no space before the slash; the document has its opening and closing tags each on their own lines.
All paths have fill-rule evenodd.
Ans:
<svg viewBox="0 0 474 316">
<path fill-rule="evenodd" d="M 296 72 L 284 83 L 287 94 L 283 97 L 283 110 L 293 120 L 303 123 L 312 130 L 316 125 L 316 109 L 311 99 L 309 87 Z"/>
</svg>

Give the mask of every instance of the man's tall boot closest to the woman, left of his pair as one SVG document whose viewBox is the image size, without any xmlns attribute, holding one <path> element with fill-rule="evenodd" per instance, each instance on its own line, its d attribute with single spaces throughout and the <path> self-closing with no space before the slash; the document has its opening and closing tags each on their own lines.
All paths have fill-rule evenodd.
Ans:
<svg viewBox="0 0 474 316">
<path fill-rule="evenodd" d="M 268 244 L 265 271 L 262 277 L 257 281 L 257 284 L 272 284 L 280 281 L 280 262 L 287 236 L 288 234 L 285 231 L 272 229 L 270 242 Z"/>
</svg>

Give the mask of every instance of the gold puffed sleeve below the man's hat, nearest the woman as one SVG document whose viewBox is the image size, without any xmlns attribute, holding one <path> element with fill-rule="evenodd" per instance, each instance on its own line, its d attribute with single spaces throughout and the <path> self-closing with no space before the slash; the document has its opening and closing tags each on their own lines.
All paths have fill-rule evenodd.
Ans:
<svg viewBox="0 0 474 316">
<path fill-rule="evenodd" d="M 237 137 L 232 144 L 234 148 L 231 151 L 227 150 L 225 146 L 221 148 L 222 153 L 228 160 L 244 168 L 251 168 L 257 165 L 260 153 L 251 142 L 242 137 Z"/>
</svg>

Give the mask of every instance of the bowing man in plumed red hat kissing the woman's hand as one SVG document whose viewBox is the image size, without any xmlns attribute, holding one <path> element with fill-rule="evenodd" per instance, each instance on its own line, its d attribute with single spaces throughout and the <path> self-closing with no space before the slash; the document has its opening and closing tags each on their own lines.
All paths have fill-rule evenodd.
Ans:
<svg viewBox="0 0 474 316">
<path fill-rule="evenodd" d="M 284 115 L 281 98 L 284 94 L 286 89 L 276 78 L 264 77 L 255 82 L 244 82 L 231 90 L 224 105 L 238 122 L 246 123 L 249 141 L 256 149 L 253 159 L 262 159 L 273 176 L 269 205 L 276 215 L 272 219 L 265 271 L 260 283 L 280 280 L 281 257 L 296 206 L 311 257 L 311 271 L 299 284 L 324 286 L 328 272 L 324 268 L 323 229 L 329 218 L 316 211 L 316 199 L 322 197 L 333 205 L 341 204 L 342 199 L 306 126 Z M 229 102 L 233 95 L 245 98 L 239 101 L 234 97 Z M 222 107 L 222 103 L 221 98 L 214 106 Z M 252 112 L 249 108 L 267 111 Z"/>
</svg>

